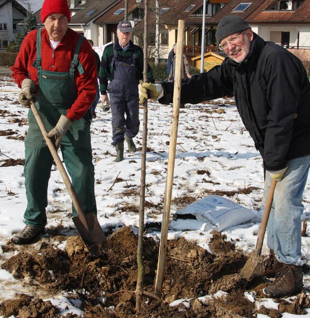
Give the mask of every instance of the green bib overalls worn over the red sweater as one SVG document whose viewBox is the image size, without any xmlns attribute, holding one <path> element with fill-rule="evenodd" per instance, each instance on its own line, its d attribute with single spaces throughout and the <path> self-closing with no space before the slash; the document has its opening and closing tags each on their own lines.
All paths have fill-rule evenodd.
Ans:
<svg viewBox="0 0 310 318">
<path fill-rule="evenodd" d="M 78 62 L 78 52 L 83 41 L 78 39 L 74 58 L 68 72 L 53 72 L 42 69 L 41 30 L 37 34 L 37 57 L 33 66 L 38 70 L 38 101 L 35 103 L 47 131 L 57 124 L 61 114 L 66 114 L 77 98 L 74 73 L 84 70 Z M 25 188 L 27 208 L 26 224 L 42 226 L 47 223 L 47 185 L 53 158 L 31 111 L 28 112 L 29 130 L 25 139 Z M 62 158 L 71 176 L 72 185 L 84 213 L 97 213 L 94 195 L 94 167 L 90 134 L 91 116 L 88 111 L 83 118 L 75 120 L 62 139 Z M 77 211 L 72 206 L 73 216 Z"/>
</svg>

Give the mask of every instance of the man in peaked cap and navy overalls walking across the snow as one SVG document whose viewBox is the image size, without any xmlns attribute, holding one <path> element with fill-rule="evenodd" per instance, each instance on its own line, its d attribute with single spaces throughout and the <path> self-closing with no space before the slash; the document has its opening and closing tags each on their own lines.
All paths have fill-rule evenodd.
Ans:
<svg viewBox="0 0 310 318">
<path fill-rule="evenodd" d="M 104 49 L 99 71 L 103 103 L 108 101 L 107 91 L 110 97 L 116 162 L 124 159 L 124 140 L 130 152 L 137 151 L 132 139 L 138 134 L 140 126 L 138 84 L 143 79 L 143 51 L 130 40 L 132 32 L 129 21 L 118 24 L 117 40 Z M 148 79 L 154 82 L 149 66 Z"/>
</svg>

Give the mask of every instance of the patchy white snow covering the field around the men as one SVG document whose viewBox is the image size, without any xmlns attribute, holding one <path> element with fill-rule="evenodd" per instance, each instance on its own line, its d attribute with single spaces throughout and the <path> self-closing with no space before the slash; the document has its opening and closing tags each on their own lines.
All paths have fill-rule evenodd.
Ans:
<svg viewBox="0 0 310 318">
<path fill-rule="evenodd" d="M 23 213 L 27 204 L 23 178 L 23 165 L 3 166 L 8 159 L 24 159 L 23 138 L 28 125 L 25 123 L 27 109 L 17 101 L 17 86 L 12 79 L 2 77 L 0 82 L 0 246 L 12 238 L 12 234 L 23 228 Z M 102 105 L 96 109 L 97 118 L 93 121 L 92 146 L 95 165 L 95 193 L 98 220 L 104 231 L 122 225 L 132 226 L 138 232 L 139 191 L 141 170 L 141 145 L 143 129 L 143 109 L 140 109 L 140 132 L 134 139 L 138 152 L 127 152 L 125 145 L 124 161 L 115 163 L 115 149 L 111 146 L 111 114 L 103 111 Z M 146 155 L 145 223 L 147 234 L 154 239 L 160 237 L 163 202 L 166 187 L 169 141 L 171 132 L 172 107 L 158 103 L 148 105 L 148 152 Z M 11 131 L 12 135 L 3 132 Z M 117 179 L 117 180 L 116 180 Z M 115 182 L 116 181 L 116 182 Z M 254 188 L 243 194 L 242 190 Z M 303 218 L 310 215 L 310 178 L 304 193 Z M 255 212 L 248 223 L 229 227 L 222 231 L 233 240 L 238 249 L 244 252 L 253 250 L 257 240 L 263 214 L 263 168 L 262 159 L 256 151 L 248 132 L 245 130 L 233 99 L 217 99 L 209 104 L 186 105 L 181 110 L 178 126 L 171 215 L 186 207 L 182 197 L 196 200 L 218 191 L 235 203 Z M 74 228 L 71 220 L 71 199 L 62 177 L 53 167 L 49 188 L 47 218 L 48 228 L 59 224 Z M 212 224 L 206 221 L 177 220 L 170 223 L 169 239 L 185 237 L 208 249 Z M 309 231 L 309 228 L 307 229 Z M 309 232 L 308 232 L 309 234 Z M 302 238 L 303 258 L 310 261 L 310 238 Z M 1 249 L 1 248 L 0 248 Z M 2 252 L 2 251 L 1 251 Z M 268 252 L 263 246 L 263 254 Z M 17 253 L 17 252 L 16 252 Z M 0 264 L 4 257 L 0 258 Z M 307 292 L 310 277 L 304 275 Z M 16 292 L 34 292 L 33 288 L 22 286 L 10 273 L 0 270 L 0 301 L 14 298 Z M 40 294 L 63 309 L 63 313 L 78 313 L 77 304 L 68 304 L 63 295 Z M 250 297 L 245 295 L 245 297 Z M 254 301 L 254 300 L 253 300 Z M 277 306 L 273 300 L 255 300 L 264 306 Z M 67 306 L 67 307 L 66 307 Z M 72 308 L 73 309 L 72 309 Z M 67 308 L 66 311 L 64 308 Z M 71 310 L 72 309 L 72 310 Z M 309 311 L 310 312 L 310 311 Z M 310 316 L 308 313 L 306 316 Z M 285 318 L 295 315 L 284 314 Z M 283 316 L 283 317 L 284 317 Z M 263 315 L 260 315 L 263 317 Z M 305 316 L 304 316 L 305 317 Z"/>
</svg>

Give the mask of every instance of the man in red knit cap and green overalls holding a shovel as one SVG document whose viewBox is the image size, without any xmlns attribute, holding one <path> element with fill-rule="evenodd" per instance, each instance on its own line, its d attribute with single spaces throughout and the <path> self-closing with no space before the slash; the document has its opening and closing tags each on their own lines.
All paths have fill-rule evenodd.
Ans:
<svg viewBox="0 0 310 318">
<path fill-rule="evenodd" d="M 18 100 L 30 108 L 34 100 L 41 118 L 72 179 L 84 213 L 97 213 L 89 111 L 96 95 L 96 63 L 88 41 L 68 28 L 67 0 L 45 0 L 44 28 L 25 37 L 12 77 L 21 88 Z M 13 241 L 28 244 L 44 232 L 47 223 L 47 185 L 53 158 L 33 116 L 28 112 L 25 139 L 26 227 Z M 77 216 L 74 207 L 73 216 Z"/>
</svg>

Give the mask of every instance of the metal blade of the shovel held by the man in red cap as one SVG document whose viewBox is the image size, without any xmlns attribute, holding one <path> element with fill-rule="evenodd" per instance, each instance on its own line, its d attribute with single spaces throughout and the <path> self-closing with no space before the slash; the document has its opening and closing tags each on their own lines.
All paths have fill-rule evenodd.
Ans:
<svg viewBox="0 0 310 318">
<path fill-rule="evenodd" d="M 99 256 L 100 247 L 102 247 L 101 243 L 106 242 L 106 236 L 94 213 L 86 213 L 84 217 L 87 226 L 85 226 L 83 223 L 84 220 L 81 220 L 79 216 L 72 218 L 73 223 L 90 254 L 92 256 Z"/>
</svg>

